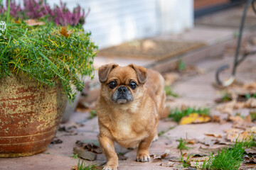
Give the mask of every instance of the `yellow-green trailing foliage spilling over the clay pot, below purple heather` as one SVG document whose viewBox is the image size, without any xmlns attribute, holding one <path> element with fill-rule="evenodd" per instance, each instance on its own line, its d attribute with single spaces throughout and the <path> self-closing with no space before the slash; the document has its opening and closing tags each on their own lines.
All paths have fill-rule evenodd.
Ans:
<svg viewBox="0 0 256 170">
<path fill-rule="evenodd" d="M 0 16 L 0 21 L 6 18 Z M 55 23 L 28 26 L 11 20 L 7 28 L 6 35 L 0 36 L 0 79 L 11 72 L 22 72 L 39 84 L 55 86 L 60 81 L 72 101 L 75 93 L 71 84 L 82 91 L 83 78 L 93 78 L 97 46 L 82 28 L 68 26 L 73 32 L 68 36 L 60 34 L 62 27 Z"/>
</svg>

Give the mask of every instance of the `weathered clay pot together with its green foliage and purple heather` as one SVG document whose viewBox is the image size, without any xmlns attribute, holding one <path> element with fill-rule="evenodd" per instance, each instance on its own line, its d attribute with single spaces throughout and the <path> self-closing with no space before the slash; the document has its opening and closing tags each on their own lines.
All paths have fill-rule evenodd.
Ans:
<svg viewBox="0 0 256 170">
<path fill-rule="evenodd" d="M 43 152 L 75 98 L 71 86 L 82 91 L 83 78 L 93 77 L 97 46 L 80 6 L 23 4 L 0 0 L 0 157 Z"/>
</svg>

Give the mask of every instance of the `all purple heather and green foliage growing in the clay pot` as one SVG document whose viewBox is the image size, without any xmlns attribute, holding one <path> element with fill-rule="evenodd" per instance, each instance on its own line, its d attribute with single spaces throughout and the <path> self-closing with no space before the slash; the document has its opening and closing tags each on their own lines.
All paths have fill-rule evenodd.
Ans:
<svg viewBox="0 0 256 170">
<path fill-rule="evenodd" d="M 82 91 L 82 77 L 93 78 L 97 45 L 82 28 L 87 14 L 61 1 L 50 8 L 43 0 L 23 0 L 23 7 L 0 0 L 0 79 L 22 72 L 39 85 L 61 81 L 72 101 L 71 84 Z"/>
</svg>

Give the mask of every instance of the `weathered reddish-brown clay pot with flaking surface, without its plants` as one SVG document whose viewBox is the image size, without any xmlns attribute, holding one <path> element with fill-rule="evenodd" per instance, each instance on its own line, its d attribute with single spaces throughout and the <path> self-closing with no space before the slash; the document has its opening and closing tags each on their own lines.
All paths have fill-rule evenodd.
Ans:
<svg viewBox="0 0 256 170">
<path fill-rule="evenodd" d="M 67 97 L 18 74 L 0 79 L 0 157 L 24 157 L 46 150 L 58 130 Z"/>
</svg>

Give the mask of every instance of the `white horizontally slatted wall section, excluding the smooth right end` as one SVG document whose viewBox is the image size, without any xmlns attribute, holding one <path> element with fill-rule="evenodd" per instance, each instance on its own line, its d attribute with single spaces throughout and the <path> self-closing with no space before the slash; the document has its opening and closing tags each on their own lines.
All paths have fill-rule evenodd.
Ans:
<svg viewBox="0 0 256 170">
<path fill-rule="evenodd" d="M 68 8 L 90 8 L 85 30 L 102 47 L 158 33 L 156 0 L 65 0 Z M 58 0 L 49 1 L 58 4 Z"/>
</svg>

